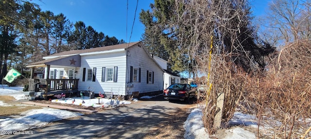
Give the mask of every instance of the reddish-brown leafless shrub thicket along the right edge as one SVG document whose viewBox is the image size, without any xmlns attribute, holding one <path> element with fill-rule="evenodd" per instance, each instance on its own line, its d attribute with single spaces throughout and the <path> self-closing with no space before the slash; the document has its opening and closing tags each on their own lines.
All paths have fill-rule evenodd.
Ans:
<svg viewBox="0 0 311 139">
<path fill-rule="evenodd" d="M 310 46 L 308 40 L 286 45 L 271 60 L 266 76 L 249 79 L 246 100 L 255 106 L 252 110 L 257 113 L 259 126 L 261 121 L 272 125 L 266 133 L 271 138 L 302 137 L 311 126 L 307 120 L 311 117 Z"/>
</svg>

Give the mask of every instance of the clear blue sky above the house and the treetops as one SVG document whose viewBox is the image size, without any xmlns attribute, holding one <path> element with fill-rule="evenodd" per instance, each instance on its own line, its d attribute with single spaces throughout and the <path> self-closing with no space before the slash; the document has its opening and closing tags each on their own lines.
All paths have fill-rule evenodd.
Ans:
<svg viewBox="0 0 311 139">
<path fill-rule="evenodd" d="M 265 14 L 266 5 L 270 0 L 250 1 L 253 14 L 262 15 Z M 110 37 L 115 36 L 118 40 L 123 39 L 126 42 L 137 42 L 144 33 L 144 26 L 139 22 L 139 13 L 141 9 L 150 9 L 150 3 L 154 3 L 154 0 L 138 0 L 131 40 L 137 0 L 34 0 L 33 2 L 37 3 L 42 11 L 49 10 L 55 15 L 63 13 L 73 24 L 76 21 L 83 21 L 86 26 L 92 26 L 97 32 L 103 32 Z"/>
</svg>

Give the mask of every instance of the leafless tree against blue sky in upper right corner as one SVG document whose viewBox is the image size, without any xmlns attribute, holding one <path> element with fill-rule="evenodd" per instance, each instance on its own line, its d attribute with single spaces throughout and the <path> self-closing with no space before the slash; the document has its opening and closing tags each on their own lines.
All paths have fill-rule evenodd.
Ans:
<svg viewBox="0 0 311 139">
<path fill-rule="evenodd" d="M 280 45 L 297 42 L 299 39 L 310 38 L 310 0 L 272 0 L 269 3 L 269 11 L 263 18 L 263 26 L 270 32 L 276 32 Z"/>
</svg>

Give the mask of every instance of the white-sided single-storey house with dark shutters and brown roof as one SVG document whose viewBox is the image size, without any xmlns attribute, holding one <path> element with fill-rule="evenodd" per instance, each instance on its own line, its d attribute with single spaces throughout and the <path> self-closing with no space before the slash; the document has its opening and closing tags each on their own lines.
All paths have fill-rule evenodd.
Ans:
<svg viewBox="0 0 311 139">
<path fill-rule="evenodd" d="M 142 42 L 66 51 L 43 58 L 27 67 L 46 66 L 45 79 L 79 79 L 79 91 L 129 96 L 163 90 L 164 70 Z"/>
</svg>

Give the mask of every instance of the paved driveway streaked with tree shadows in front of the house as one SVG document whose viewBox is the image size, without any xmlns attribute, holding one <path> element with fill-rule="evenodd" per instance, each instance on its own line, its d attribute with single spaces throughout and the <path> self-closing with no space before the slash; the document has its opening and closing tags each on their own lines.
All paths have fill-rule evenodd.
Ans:
<svg viewBox="0 0 311 139">
<path fill-rule="evenodd" d="M 140 100 L 117 109 L 86 114 L 31 129 L 33 135 L 3 139 L 182 139 L 189 108 L 162 96 Z"/>
</svg>

